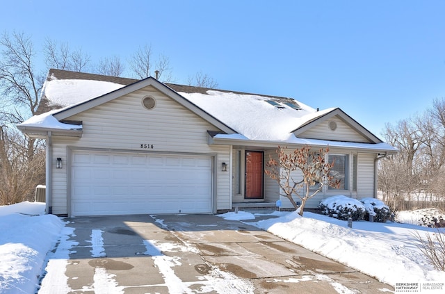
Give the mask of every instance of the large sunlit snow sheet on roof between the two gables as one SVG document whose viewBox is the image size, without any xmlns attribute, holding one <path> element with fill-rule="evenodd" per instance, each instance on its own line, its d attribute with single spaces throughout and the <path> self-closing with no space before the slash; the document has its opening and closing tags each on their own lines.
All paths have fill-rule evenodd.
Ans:
<svg viewBox="0 0 445 294">
<path fill-rule="evenodd" d="M 298 126 L 333 109 L 317 112 L 293 99 L 286 101 L 293 100 L 301 109 L 274 99 L 277 107 L 268 103 L 270 97 L 217 90 L 209 90 L 207 94 L 179 92 L 179 95 L 250 140 L 288 140 Z"/>
</svg>

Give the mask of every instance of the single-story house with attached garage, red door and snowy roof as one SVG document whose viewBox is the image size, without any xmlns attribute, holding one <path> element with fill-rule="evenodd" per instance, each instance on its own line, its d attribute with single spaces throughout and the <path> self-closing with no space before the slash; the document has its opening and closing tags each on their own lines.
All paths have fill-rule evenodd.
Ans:
<svg viewBox="0 0 445 294">
<path fill-rule="evenodd" d="M 270 95 L 49 70 L 38 115 L 17 127 L 47 148 L 47 213 L 218 213 L 291 208 L 264 174 L 277 147 L 329 146 L 331 195 L 375 197 L 377 161 L 396 148 L 340 108 Z M 331 158 L 330 158 L 331 159 Z M 296 199 L 298 200 L 298 199 Z"/>
</svg>

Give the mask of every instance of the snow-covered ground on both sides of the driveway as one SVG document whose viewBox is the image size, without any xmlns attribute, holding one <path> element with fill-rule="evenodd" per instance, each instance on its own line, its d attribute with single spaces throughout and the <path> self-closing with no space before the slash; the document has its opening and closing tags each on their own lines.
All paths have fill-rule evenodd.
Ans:
<svg viewBox="0 0 445 294">
<path fill-rule="evenodd" d="M 0 206 L 0 293 L 34 293 L 47 252 L 67 237 L 63 220 L 43 215 L 43 211 L 42 203 Z M 417 281 L 443 283 L 445 272 L 428 264 L 413 236 L 437 230 L 413 224 L 419 218 L 416 213 L 399 215 L 409 223 L 359 221 L 353 223 L 353 229 L 346 221 L 309 212 L 301 218 L 297 213 L 275 211 L 270 215 L 275 218 L 259 221 L 255 218 L 264 214 L 239 211 L 220 216 L 254 224 L 393 286 Z"/>
</svg>

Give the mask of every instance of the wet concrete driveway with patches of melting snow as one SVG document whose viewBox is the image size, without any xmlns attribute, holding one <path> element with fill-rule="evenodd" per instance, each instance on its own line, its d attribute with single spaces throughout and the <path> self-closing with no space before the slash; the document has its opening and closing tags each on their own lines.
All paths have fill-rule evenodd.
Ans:
<svg viewBox="0 0 445 294">
<path fill-rule="evenodd" d="M 65 220 L 74 231 L 58 250 L 68 250 L 69 259 L 65 268 L 49 263 L 39 293 L 394 291 L 266 231 L 215 215 Z M 56 270 L 58 275 L 51 273 Z"/>
</svg>

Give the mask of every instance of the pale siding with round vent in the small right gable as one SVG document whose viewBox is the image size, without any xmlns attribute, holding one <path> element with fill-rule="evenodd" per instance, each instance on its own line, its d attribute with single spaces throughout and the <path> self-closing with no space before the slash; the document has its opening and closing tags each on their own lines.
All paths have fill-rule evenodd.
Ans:
<svg viewBox="0 0 445 294">
<path fill-rule="evenodd" d="M 337 129 L 332 131 L 332 129 L 330 129 L 329 127 L 330 122 L 335 122 L 337 124 Z M 298 137 L 320 140 L 369 143 L 369 140 L 364 138 L 364 136 L 362 136 L 361 134 L 357 133 L 355 129 L 351 128 L 337 116 L 334 116 L 329 120 L 320 122 L 316 126 L 313 126 L 311 129 L 300 133 Z"/>
</svg>

